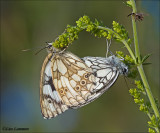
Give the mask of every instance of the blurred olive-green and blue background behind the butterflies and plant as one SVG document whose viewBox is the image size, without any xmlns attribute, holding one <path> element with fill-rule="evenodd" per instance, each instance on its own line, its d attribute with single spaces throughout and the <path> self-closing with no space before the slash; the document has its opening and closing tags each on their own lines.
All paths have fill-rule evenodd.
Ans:
<svg viewBox="0 0 160 133">
<path fill-rule="evenodd" d="M 152 64 L 144 69 L 153 95 L 159 98 L 159 1 L 138 1 L 137 8 L 145 14 L 137 22 L 141 54 L 152 53 L 148 60 Z M 127 17 L 131 12 L 120 0 L 1 1 L 1 131 L 18 127 L 29 128 L 28 132 L 147 132 L 148 117 L 129 95 L 123 76 L 96 101 L 54 119 L 43 119 L 39 105 L 40 70 L 47 52 L 34 53 L 84 14 L 108 27 L 118 21 L 132 38 L 131 18 Z M 111 51 L 127 53 L 122 47 L 112 41 Z M 106 41 L 82 32 L 69 51 L 79 57 L 105 57 Z"/>
</svg>

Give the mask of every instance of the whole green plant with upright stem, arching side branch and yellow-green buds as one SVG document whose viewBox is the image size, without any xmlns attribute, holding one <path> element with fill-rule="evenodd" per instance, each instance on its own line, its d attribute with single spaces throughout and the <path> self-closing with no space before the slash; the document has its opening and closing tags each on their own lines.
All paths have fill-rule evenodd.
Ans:
<svg viewBox="0 0 160 133">
<path fill-rule="evenodd" d="M 136 4 L 134 0 L 127 1 L 127 5 L 129 5 L 132 9 L 132 13 L 137 13 Z M 55 48 L 64 49 L 68 47 L 68 45 L 72 44 L 73 41 L 78 39 L 78 35 L 81 31 L 86 30 L 90 32 L 92 35 L 98 38 L 106 38 L 106 39 L 115 39 L 124 44 L 126 49 L 128 50 L 129 55 L 124 55 L 123 52 L 117 51 L 117 54 L 124 59 L 124 62 L 128 64 L 130 71 L 130 76 L 135 79 L 137 73 L 141 77 L 141 81 L 135 80 L 135 85 L 137 86 L 134 89 L 130 89 L 130 94 L 134 98 L 134 102 L 139 105 L 139 110 L 145 112 L 151 121 L 148 121 L 149 132 L 154 133 L 155 131 L 159 133 L 160 128 L 160 115 L 152 95 L 150 86 L 148 84 L 145 72 L 143 70 L 144 61 L 150 56 L 150 54 L 146 55 L 141 59 L 140 49 L 138 43 L 138 34 L 137 34 L 137 26 L 135 17 L 132 15 L 132 27 L 133 27 L 133 38 L 134 38 L 134 47 L 135 53 L 132 51 L 130 44 L 131 39 L 128 36 L 128 32 L 124 28 L 123 25 L 120 25 L 118 22 L 113 21 L 112 28 L 102 26 L 98 20 L 91 21 L 90 18 L 86 15 L 80 17 L 78 21 L 76 21 L 76 26 L 68 25 L 65 32 L 62 33 L 52 45 Z M 144 96 L 148 96 L 149 104 L 145 103 L 145 100 L 141 97 L 141 94 Z M 154 114 L 151 115 L 151 110 Z"/>
</svg>

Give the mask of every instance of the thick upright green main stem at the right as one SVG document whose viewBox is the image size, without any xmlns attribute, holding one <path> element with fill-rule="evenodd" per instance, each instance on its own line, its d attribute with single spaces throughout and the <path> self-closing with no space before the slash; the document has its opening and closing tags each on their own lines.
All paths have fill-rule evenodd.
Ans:
<svg viewBox="0 0 160 133">
<path fill-rule="evenodd" d="M 133 12 L 136 13 L 137 9 L 136 9 L 135 1 L 134 0 L 130 0 L 130 1 L 132 2 Z M 155 113 L 155 116 L 159 117 L 159 111 L 157 109 L 157 106 L 156 106 L 154 97 L 152 95 L 150 86 L 148 84 L 147 78 L 145 76 L 145 73 L 144 73 L 144 70 L 143 70 L 143 66 L 141 64 L 139 45 L 138 45 L 137 28 L 136 28 L 137 26 L 136 26 L 136 22 L 135 22 L 135 19 L 134 19 L 133 16 L 132 16 L 132 26 L 133 26 L 133 36 L 134 36 L 134 44 L 135 44 L 135 54 L 136 54 L 136 57 L 138 57 L 138 63 L 140 63 L 140 65 L 138 65 L 137 68 L 138 68 L 139 74 L 141 76 L 141 79 L 143 81 L 144 87 L 145 87 L 146 92 L 147 92 L 147 96 L 148 96 L 148 98 L 150 100 L 150 103 L 151 103 L 151 106 L 152 106 L 153 111 Z"/>
</svg>

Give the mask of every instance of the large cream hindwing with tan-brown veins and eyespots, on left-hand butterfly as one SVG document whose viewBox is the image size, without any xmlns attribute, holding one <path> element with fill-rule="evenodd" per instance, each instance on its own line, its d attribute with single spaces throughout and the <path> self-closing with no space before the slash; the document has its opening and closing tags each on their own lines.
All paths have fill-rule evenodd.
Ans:
<svg viewBox="0 0 160 133">
<path fill-rule="evenodd" d="M 79 57 L 63 52 L 52 58 L 53 84 L 62 101 L 70 108 L 80 107 L 95 89 L 95 76 Z"/>
</svg>

